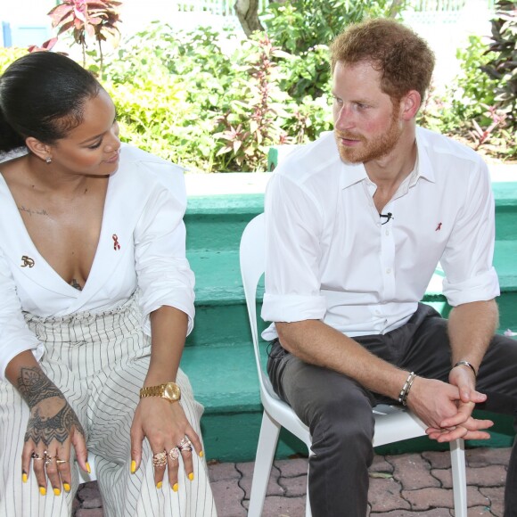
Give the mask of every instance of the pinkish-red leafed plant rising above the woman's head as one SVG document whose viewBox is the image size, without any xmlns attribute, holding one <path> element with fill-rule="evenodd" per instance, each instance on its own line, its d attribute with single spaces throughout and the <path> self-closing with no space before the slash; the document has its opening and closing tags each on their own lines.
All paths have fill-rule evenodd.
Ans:
<svg viewBox="0 0 517 517">
<path fill-rule="evenodd" d="M 119 40 L 117 27 L 120 19 L 117 0 L 63 0 L 48 12 L 58 37 L 71 30 L 74 41 L 83 49 L 83 66 L 86 64 L 86 37 L 94 38 L 99 48 L 100 69 L 103 70 L 103 41 Z M 45 45 L 45 44 L 44 44 Z"/>
</svg>

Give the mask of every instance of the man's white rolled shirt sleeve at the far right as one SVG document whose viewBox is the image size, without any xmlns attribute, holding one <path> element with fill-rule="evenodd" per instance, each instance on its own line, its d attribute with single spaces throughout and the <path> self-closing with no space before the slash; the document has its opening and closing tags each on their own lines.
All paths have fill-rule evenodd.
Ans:
<svg viewBox="0 0 517 517">
<path fill-rule="evenodd" d="M 492 300 L 499 295 L 499 281 L 492 266 L 495 234 L 494 197 L 488 168 L 480 161 L 469 176 L 464 208 L 440 259 L 446 275 L 443 293 L 451 306 Z"/>
</svg>

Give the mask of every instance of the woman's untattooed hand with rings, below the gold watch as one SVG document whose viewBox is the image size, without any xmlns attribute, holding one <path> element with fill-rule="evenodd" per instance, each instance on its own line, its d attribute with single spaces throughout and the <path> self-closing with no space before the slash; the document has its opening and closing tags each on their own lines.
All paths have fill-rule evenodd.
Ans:
<svg viewBox="0 0 517 517">
<path fill-rule="evenodd" d="M 167 467 L 169 485 L 176 492 L 178 488 L 178 453 L 183 458 L 188 479 L 192 481 L 194 478 L 193 452 L 189 450 L 192 447 L 189 447 L 185 437 L 192 442 L 194 451 L 202 456 L 201 440 L 188 422 L 180 402 L 169 402 L 160 397 L 142 398 L 136 407 L 135 418 L 131 426 L 131 472 L 135 472 L 140 466 L 142 442 L 144 438 L 147 438 L 151 445 L 153 458 L 159 455 L 158 460 L 163 459 L 162 462 L 155 460 L 154 483 L 161 488 Z M 160 455 L 160 453 L 165 454 Z"/>
</svg>

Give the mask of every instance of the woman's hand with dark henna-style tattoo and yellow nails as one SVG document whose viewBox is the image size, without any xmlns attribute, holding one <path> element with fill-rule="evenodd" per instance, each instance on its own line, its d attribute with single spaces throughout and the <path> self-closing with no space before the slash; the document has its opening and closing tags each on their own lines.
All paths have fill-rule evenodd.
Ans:
<svg viewBox="0 0 517 517">
<path fill-rule="evenodd" d="M 90 472 L 85 432 L 78 416 L 39 366 L 22 367 L 17 387 L 30 409 L 21 455 L 22 480 L 27 481 L 32 460 L 42 496 L 46 494 L 47 478 L 56 496 L 61 494 L 62 488 L 69 492 L 70 445 L 76 449 L 78 464 Z"/>
</svg>

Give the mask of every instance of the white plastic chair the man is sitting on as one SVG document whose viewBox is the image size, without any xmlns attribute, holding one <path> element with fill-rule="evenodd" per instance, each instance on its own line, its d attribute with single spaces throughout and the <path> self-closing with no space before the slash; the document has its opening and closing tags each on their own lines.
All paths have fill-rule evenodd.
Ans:
<svg viewBox="0 0 517 517">
<path fill-rule="evenodd" d="M 253 218 L 244 229 L 241 239 L 241 275 L 250 317 L 251 337 L 255 348 L 255 359 L 259 373 L 260 400 L 264 406 L 260 426 L 259 445 L 255 459 L 255 471 L 251 483 L 248 517 L 260 517 L 266 497 L 267 482 L 273 465 L 276 444 L 281 427 L 305 442 L 310 454 L 312 440 L 308 427 L 300 421 L 291 409 L 275 394 L 267 373 L 260 363 L 259 333 L 257 328 L 257 286 L 265 267 L 264 214 Z M 410 411 L 397 406 L 375 406 L 375 435 L 373 446 L 397 442 L 425 435 L 425 425 Z M 467 490 L 465 476 L 464 440 L 457 439 L 450 444 L 454 504 L 456 517 L 467 517 Z M 306 516 L 311 517 L 307 491 Z"/>
</svg>

